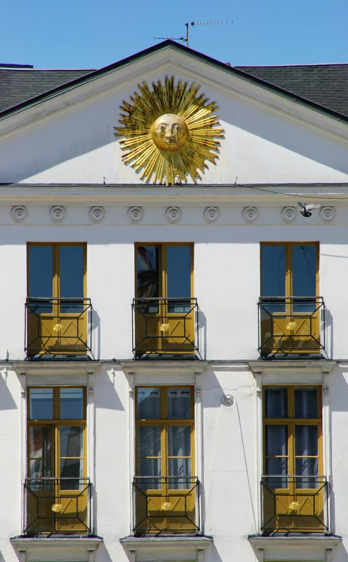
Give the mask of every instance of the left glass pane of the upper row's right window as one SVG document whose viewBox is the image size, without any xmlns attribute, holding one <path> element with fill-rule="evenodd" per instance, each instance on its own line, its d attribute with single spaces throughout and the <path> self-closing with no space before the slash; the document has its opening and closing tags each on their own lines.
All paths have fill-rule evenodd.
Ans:
<svg viewBox="0 0 348 562">
<path fill-rule="evenodd" d="M 285 296 L 285 246 L 261 246 L 261 275 L 262 296 Z"/>
</svg>

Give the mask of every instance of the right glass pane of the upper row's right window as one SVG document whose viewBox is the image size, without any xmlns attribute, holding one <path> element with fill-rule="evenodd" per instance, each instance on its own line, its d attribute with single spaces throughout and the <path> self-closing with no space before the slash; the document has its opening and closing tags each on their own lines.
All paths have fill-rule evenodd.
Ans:
<svg viewBox="0 0 348 562">
<path fill-rule="evenodd" d="M 293 246 L 293 296 L 315 296 L 316 250 L 315 244 Z"/>
</svg>

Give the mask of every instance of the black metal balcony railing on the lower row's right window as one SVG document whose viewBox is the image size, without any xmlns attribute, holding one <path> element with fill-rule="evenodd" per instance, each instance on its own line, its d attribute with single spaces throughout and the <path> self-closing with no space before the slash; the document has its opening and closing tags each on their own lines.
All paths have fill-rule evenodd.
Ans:
<svg viewBox="0 0 348 562">
<path fill-rule="evenodd" d="M 325 476 L 262 476 L 262 531 L 328 533 L 329 483 Z"/>
</svg>

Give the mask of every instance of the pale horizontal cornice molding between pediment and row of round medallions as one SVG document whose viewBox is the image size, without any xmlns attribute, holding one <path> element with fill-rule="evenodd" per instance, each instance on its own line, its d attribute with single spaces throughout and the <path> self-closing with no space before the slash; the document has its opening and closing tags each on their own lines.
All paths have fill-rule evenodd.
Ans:
<svg viewBox="0 0 348 562">
<path fill-rule="evenodd" d="M 281 194 L 281 197 L 280 197 Z M 183 184 L 166 188 L 163 185 L 95 185 L 95 184 L 29 184 L 0 185 L 1 205 L 52 206 L 58 201 L 66 206 L 176 206 L 184 208 L 201 206 L 272 206 L 280 210 L 294 205 L 295 197 L 315 197 L 323 205 L 348 205 L 348 184 L 301 184 L 301 185 L 199 185 Z M 345 201 L 346 199 L 346 201 Z M 104 221 L 105 222 L 105 221 Z M 313 222 L 313 221 L 312 221 Z M 219 224 L 217 221 L 216 224 Z M 244 221 L 243 221 L 244 224 Z M 312 224 L 312 223 L 310 223 Z M 322 221 L 320 221 L 322 224 Z M 214 225 L 212 225 L 214 226 Z"/>
</svg>

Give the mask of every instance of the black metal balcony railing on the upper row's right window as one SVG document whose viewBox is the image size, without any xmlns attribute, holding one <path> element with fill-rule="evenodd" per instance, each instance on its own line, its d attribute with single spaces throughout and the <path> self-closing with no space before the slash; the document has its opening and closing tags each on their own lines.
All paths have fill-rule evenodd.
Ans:
<svg viewBox="0 0 348 562">
<path fill-rule="evenodd" d="M 322 297 L 259 297 L 261 354 L 320 353 L 325 349 Z"/>
</svg>

